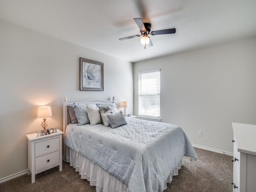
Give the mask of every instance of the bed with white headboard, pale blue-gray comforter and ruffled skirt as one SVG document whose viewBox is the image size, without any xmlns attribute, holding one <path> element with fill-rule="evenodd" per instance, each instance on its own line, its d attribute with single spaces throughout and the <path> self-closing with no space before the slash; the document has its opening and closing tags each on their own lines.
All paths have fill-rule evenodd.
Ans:
<svg viewBox="0 0 256 192">
<path fill-rule="evenodd" d="M 74 115 L 70 116 L 72 105 L 78 123 L 73 122 Z M 90 117 L 90 123 L 86 124 L 81 123 L 84 119 L 77 112 L 78 107 L 84 106 Z M 95 124 L 92 118 L 91 110 L 96 108 L 100 108 L 102 123 Z M 111 108 L 111 114 L 108 111 L 103 116 L 102 108 Z M 178 174 L 183 156 L 197 160 L 194 148 L 179 126 L 126 118 L 116 109 L 114 97 L 112 101 L 71 103 L 65 98 L 63 120 L 64 160 L 81 178 L 96 186 L 97 192 L 162 192 L 172 176 Z"/>
</svg>

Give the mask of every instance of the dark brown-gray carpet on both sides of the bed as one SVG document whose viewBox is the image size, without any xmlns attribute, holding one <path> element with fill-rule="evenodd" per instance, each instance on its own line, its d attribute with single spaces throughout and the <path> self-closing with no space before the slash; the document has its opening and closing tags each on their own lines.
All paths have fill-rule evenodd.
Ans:
<svg viewBox="0 0 256 192">
<path fill-rule="evenodd" d="M 197 162 L 184 158 L 184 166 L 173 177 L 164 192 L 232 192 L 232 156 L 195 148 Z M 95 192 L 87 180 L 66 162 L 63 171 L 58 167 L 36 175 L 31 184 L 31 176 L 24 175 L 0 184 L 1 192 Z"/>
</svg>

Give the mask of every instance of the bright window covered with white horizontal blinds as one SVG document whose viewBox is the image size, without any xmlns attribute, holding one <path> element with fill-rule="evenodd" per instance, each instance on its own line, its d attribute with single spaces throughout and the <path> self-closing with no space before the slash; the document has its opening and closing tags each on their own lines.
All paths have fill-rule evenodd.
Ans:
<svg viewBox="0 0 256 192">
<path fill-rule="evenodd" d="M 160 69 L 139 74 L 139 116 L 160 118 Z"/>
</svg>

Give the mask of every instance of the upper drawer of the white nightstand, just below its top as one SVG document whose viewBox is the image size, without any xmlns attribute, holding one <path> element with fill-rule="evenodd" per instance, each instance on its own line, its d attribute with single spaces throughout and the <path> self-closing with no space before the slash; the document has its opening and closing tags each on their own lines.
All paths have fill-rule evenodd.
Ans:
<svg viewBox="0 0 256 192">
<path fill-rule="evenodd" d="M 35 156 L 60 149 L 60 138 L 53 138 L 35 143 Z"/>
</svg>

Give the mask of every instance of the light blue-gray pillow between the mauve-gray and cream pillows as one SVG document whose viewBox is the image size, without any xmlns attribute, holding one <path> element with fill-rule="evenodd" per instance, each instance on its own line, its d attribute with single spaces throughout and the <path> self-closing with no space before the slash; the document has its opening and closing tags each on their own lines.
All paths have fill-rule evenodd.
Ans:
<svg viewBox="0 0 256 192">
<path fill-rule="evenodd" d="M 90 123 L 90 120 L 88 118 L 87 110 L 86 110 L 86 104 L 78 104 L 74 103 L 74 111 L 76 112 L 76 117 L 78 120 L 78 125 L 85 125 Z"/>
</svg>

